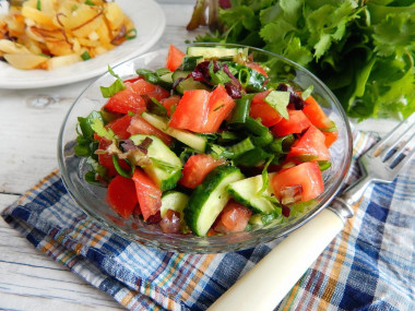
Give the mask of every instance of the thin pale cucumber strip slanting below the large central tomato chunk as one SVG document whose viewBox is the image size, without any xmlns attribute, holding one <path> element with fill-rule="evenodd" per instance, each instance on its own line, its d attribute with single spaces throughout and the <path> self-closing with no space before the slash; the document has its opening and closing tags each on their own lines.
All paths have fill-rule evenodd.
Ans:
<svg viewBox="0 0 415 311">
<path fill-rule="evenodd" d="M 205 151 L 208 145 L 208 140 L 205 137 L 198 136 L 186 130 L 169 128 L 167 118 L 155 116 L 149 112 L 143 112 L 141 116 L 153 127 L 169 134 L 170 136 L 192 147 L 193 149 L 201 153 Z"/>
</svg>

